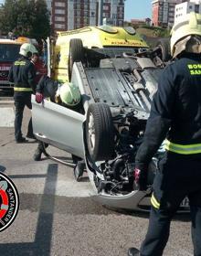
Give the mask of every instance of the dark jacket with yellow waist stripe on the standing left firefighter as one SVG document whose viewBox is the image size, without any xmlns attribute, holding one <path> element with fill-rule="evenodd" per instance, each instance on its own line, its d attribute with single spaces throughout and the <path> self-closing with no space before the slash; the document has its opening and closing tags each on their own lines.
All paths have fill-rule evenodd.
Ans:
<svg viewBox="0 0 201 256">
<path fill-rule="evenodd" d="M 35 78 L 34 64 L 23 56 L 14 62 L 8 74 L 8 80 L 14 82 L 15 92 L 35 92 Z"/>
</svg>

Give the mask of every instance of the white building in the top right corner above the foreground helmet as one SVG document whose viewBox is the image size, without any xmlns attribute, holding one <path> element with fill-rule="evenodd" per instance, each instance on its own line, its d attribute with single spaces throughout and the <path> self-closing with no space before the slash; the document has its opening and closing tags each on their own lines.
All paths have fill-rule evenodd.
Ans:
<svg viewBox="0 0 201 256">
<path fill-rule="evenodd" d="M 175 23 L 190 12 L 201 14 L 201 0 L 190 0 L 179 5 L 175 5 Z"/>
</svg>

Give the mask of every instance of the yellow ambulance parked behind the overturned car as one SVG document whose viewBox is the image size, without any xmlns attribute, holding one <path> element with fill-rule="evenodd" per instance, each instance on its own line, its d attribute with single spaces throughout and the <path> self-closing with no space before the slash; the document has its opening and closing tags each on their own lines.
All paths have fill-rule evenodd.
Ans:
<svg viewBox="0 0 201 256">
<path fill-rule="evenodd" d="M 72 66 L 81 61 L 87 67 L 96 67 L 100 59 L 122 54 L 136 54 L 148 45 L 132 27 L 83 27 L 58 32 L 50 47 L 50 75 L 55 80 L 70 80 Z"/>
</svg>

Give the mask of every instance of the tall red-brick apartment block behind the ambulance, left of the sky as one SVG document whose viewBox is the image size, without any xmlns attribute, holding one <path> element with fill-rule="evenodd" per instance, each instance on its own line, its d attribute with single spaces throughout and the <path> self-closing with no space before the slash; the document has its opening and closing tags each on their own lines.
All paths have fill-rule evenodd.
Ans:
<svg viewBox="0 0 201 256">
<path fill-rule="evenodd" d="M 54 31 L 97 26 L 99 0 L 52 0 L 51 23 Z M 111 25 L 122 26 L 124 0 L 103 0 L 102 17 Z"/>
</svg>

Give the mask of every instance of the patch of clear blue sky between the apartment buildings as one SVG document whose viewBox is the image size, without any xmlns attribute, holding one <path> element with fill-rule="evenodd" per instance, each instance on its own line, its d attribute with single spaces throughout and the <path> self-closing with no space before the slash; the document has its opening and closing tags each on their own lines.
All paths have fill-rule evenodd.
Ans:
<svg viewBox="0 0 201 256">
<path fill-rule="evenodd" d="M 152 0 L 126 0 L 124 19 L 152 17 Z"/>
</svg>

